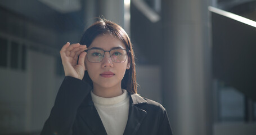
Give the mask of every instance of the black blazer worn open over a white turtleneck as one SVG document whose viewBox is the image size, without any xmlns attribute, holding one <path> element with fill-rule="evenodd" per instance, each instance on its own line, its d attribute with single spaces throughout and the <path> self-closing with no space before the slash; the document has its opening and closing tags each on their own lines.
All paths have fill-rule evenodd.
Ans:
<svg viewBox="0 0 256 135">
<path fill-rule="evenodd" d="M 65 77 L 41 134 L 107 134 L 91 98 L 91 86 Z M 124 134 L 172 134 L 166 110 L 159 103 L 130 94 Z"/>
</svg>

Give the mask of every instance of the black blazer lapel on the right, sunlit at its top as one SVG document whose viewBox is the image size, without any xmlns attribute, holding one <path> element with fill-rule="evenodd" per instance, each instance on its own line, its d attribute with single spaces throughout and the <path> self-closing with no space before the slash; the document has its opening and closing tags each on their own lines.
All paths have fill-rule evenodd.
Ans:
<svg viewBox="0 0 256 135">
<path fill-rule="evenodd" d="M 146 101 L 137 94 L 131 95 L 129 105 L 129 116 L 124 135 L 136 134 L 147 112 L 137 107 L 137 104 L 145 104 Z"/>
</svg>

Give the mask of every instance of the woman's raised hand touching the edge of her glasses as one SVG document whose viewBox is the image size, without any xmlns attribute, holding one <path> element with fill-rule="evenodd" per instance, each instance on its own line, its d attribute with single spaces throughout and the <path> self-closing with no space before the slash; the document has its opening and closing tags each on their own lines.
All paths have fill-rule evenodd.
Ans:
<svg viewBox="0 0 256 135">
<path fill-rule="evenodd" d="M 86 70 L 86 67 L 84 66 L 86 52 L 84 52 L 84 50 L 87 50 L 86 45 L 80 45 L 79 43 L 70 45 L 69 42 L 61 48 L 60 56 L 62 65 L 64 67 L 65 76 L 78 78 L 80 80 L 83 79 L 84 71 Z"/>
</svg>

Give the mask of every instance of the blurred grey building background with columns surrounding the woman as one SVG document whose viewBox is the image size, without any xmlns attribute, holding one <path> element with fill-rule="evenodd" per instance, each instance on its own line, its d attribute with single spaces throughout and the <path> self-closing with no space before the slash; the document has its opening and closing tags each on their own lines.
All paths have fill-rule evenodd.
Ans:
<svg viewBox="0 0 256 135">
<path fill-rule="evenodd" d="M 254 0 L 1 0 L 0 134 L 41 132 L 60 48 L 99 15 L 129 34 L 138 93 L 167 109 L 174 134 L 256 134 Z"/>
</svg>

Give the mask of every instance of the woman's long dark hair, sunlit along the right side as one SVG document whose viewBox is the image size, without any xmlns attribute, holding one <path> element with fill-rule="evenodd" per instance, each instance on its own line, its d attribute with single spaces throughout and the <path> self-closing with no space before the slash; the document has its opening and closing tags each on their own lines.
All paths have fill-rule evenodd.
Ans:
<svg viewBox="0 0 256 135">
<path fill-rule="evenodd" d="M 131 60 L 131 66 L 130 69 L 125 71 L 124 78 L 122 80 L 122 88 L 126 89 L 130 93 L 137 93 L 136 69 L 132 43 L 127 33 L 121 26 L 109 20 L 100 18 L 84 32 L 79 43 L 89 47 L 98 35 L 103 34 L 110 34 L 115 38 L 118 38 L 129 50 L 128 58 Z M 85 71 L 83 80 L 91 84 L 93 87 L 92 80 L 89 78 L 87 71 Z"/>
</svg>

